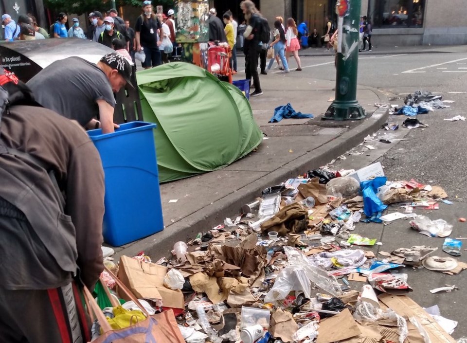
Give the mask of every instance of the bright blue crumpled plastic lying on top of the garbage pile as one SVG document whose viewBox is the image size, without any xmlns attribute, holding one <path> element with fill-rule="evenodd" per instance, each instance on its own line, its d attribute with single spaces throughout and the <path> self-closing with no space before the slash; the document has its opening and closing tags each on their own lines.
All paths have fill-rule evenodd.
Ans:
<svg viewBox="0 0 467 343">
<path fill-rule="evenodd" d="M 361 193 L 363 196 L 363 212 L 365 212 L 366 219 L 362 220 L 365 223 L 373 221 L 381 223 L 382 212 L 388 208 L 378 197 L 378 188 L 385 185 L 388 179 L 384 176 L 377 177 L 373 180 L 363 181 L 360 183 Z"/>
</svg>

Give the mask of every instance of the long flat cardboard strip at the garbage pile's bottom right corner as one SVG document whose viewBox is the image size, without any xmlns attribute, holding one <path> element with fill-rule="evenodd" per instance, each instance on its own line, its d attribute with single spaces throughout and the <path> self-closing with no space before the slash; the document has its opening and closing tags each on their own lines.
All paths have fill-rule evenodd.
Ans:
<svg viewBox="0 0 467 343">
<path fill-rule="evenodd" d="M 425 328 L 430 336 L 431 343 L 456 343 L 436 321 L 420 305 L 415 303 L 407 295 L 380 294 L 379 300 L 387 307 L 393 309 L 399 316 L 415 317 Z"/>
</svg>

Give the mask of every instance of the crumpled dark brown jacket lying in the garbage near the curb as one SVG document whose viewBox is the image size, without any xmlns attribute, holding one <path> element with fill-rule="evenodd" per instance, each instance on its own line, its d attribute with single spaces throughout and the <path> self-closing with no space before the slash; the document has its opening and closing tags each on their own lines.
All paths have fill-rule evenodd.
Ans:
<svg viewBox="0 0 467 343">
<path fill-rule="evenodd" d="M 280 236 L 288 233 L 298 234 L 305 231 L 308 225 L 308 211 L 299 203 L 285 206 L 274 217 L 261 225 L 261 231 L 277 231 Z"/>
</svg>

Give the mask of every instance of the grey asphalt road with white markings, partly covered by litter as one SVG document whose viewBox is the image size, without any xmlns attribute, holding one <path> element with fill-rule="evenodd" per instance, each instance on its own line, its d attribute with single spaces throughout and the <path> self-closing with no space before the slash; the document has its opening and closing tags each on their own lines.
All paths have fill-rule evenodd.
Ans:
<svg viewBox="0 0 467 343">
<path fill-rule="evenodd" d="M 392 144 L 371 143 L 375 150 L 368 150 L 364 145 L 355 148 L 363 155 L 347 154 L 345 160 L 334 164 L 336 169 L 359 169 L 372 162 L 379 161 L 384 166 L 385 175 L 389 180 L 416 179 L 421 183 L 441 185 L 449 194 L 453 205 L 440 206 L 435 211 L 416 211 L 431 219 L 443 218 L 454 225 L 451 237 L 467 237 L 467 224 L 460 223 L 459 217 L 467 217 L 467 121 L 448 122 L 443 119 L 457 115 L 467 116 L 467 47 L 449 47 L 443 50 L 437 47 L 436 52 L 394 53 L 388 54 L 364 53 L 359 56 L 358 83 L 363 86 L 377 88 L 390 98 L 391 104 L 403 105 L 407 93 L 415 90 L 429 90 L 441 93 L 443 100 L 455 101 L 450 108 L 436 110 L 419 115 L 418 119 L 428 124 L 427 128 L 383 131 L 381 137 L 387 139 L 406 139 Z M 291 72 L 287 75 L 275 74 L 262 77 L 303 77 L 334 80 L 334 56 L 332 54 L 313 57 L 302 57 L 303 72 Z M 291 60 L 290 68 L 295 68 Z M 288 81 L 288 80 L 287 80 Z M 298 83 L 298 82 L 297 82 Z M 290 85 L 290 83 L 288 83 Z M 291 83 L 294 87 L 293 82 Z M 310 86 L 313 87 L 313 86 Z M 457 93 L 455 93 L 457 92 Z M 254 101 L 254 100 L 253 100 Z M 369 105 L 369 104 L 362 104 Z M 390 120 L 401 124 L 405 116 L 391 116 Z M 397 206 L 389 212 L 399 211 Z M 406 220 L 397 220 L 391 225 L 359 223 L 356 233 L 370 238 L 378 238 L 382 242 L 378 250 L 391 252 L 400 247 L 414 245 L 432 245 L 438 247 L 436 255 L 448 256 L 441 251 L 444 239 L 426 237 L 410 229 Z M 467 241 L 464 241 L 463 255 L 460 261 L 467 262 L 465 251 Z M 405 268 L 402 272 L 409 275 L 409 284 L 413 288 L 411 297 L 423 307 L 439 305 L 441 314 L 446 318 L 459 322 L 453 337 L 459 339 L 467 336 L 467 307 L 465 295 L 467 271 L 456 275 Z M 445 284 L 457 285 L 460 290 L 451 293 L 431 294 L 430 289 L 442 287 Z M 353 285 L 359 288 L 360 285 Z"/>
</svg>

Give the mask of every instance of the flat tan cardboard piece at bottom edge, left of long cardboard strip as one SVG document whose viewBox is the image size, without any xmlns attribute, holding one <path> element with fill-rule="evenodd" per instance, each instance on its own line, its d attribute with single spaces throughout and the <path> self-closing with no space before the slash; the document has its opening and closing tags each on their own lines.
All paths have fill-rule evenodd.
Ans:
<svg viewBox="0 0 467 343">
<path fill-rule="evenodd" d="M 348 308 L 320 322 L 316 343 L 332 343 L 349 339 L 361 334 L 359 325 Z"/>
</svg>

